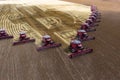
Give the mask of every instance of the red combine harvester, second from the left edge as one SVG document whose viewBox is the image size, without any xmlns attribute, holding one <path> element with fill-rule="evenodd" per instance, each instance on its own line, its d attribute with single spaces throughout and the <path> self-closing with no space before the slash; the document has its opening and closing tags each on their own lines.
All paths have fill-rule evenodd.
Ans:
<svg viewBox="0 0 120 80">
<path fill-rule="evenodd" d="M 16 42 L 13 42 L 13 45 L 29 43 L 29 42 L 35 42 L 35 39 L 30 39 L 29 37 L 26 37 L 26 33 L 25 32 L 20 32 L 19 40 L 16 41 Z"/>
</svg>

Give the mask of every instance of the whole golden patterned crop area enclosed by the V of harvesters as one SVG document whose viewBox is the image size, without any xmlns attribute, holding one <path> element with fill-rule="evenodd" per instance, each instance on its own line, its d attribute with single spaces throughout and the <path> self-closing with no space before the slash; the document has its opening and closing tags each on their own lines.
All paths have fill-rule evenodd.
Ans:
<svg viewBox="0 0 120 80">
<path fill-rule="evenodd" d="M 36 39 L 37 45 L 44 34 L 49 34 L 53 40 L 68 45 L 89 15 L 90 6 L 82 4 L 1 4 L 0 28 L 13 35 L 13 41 L 18 39 L 20 31 L 26 31 L 27 36 Z"/>
</svg>

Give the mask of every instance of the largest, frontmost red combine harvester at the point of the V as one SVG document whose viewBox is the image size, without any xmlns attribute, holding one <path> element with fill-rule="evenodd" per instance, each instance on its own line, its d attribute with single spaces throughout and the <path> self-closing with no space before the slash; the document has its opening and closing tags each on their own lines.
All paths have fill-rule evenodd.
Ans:
<svg viewBox="0 0 120 80">
<path fill-rule="evenodd" d="M 72 40 L 69 46 L 69 51 L 71 54 L 68 54 L 68 57 L 73 58 L 83 54 L 91 53 L 93 52 L 93 49 L 84 48 L 79 40 Z"/>
</svg>

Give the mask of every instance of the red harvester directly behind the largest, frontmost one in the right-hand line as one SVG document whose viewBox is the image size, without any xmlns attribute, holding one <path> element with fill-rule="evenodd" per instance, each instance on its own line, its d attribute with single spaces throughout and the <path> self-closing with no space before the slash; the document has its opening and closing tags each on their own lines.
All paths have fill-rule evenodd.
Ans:
<svg viewBox="0 0 120 80">
<path fill-rule="evenodd" d="M 77 36 L 76 38 L 80 41 L 89 41 L 89 40 L 94 40 L 95 37 L 92 36 L 88 36 L 87 32 L 85 30 L 78 30 L 77 31 Z"/>
</svg>

